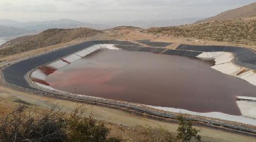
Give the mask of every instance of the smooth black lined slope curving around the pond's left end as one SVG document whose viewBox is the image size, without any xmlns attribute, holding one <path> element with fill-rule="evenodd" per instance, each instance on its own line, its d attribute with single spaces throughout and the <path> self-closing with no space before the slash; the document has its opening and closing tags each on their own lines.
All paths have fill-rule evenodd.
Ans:
<svg viewBox="0 0 256 142">
<path fill-rule="evenodd" d="M 20 86 L 23 88 L 27 88 L 29 90 L 38 91 L 37 88 L 31 87 L 25 79 L 26 74 L 30 70 L 35 69 L 39 66 L 49 64 L 57 59 L 71 55 L 74 52 L 77 52 L 79 50 L 88 48 L 96 44 L 139 46 L 136 43 L 132 43 L 128 41 L 117 41 L 117 40 L 87 41 L 87 42 L 79 43 L 74 46 L 58 49 L 58 50 L 49 52 L 47 54 L 31 57 L 26 60 L 20 61 L 18 63 L 12 64 L 3 69 L 4 80 L 5 82 L 15 86 Z"/>
</svg>

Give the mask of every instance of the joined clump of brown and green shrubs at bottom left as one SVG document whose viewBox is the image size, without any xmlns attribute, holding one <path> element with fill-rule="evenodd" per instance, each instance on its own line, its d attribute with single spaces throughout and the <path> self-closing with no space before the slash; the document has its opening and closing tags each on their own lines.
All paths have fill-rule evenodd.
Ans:
<svg viewBox="0 0 256 142">
<path fill-rule="evenodd" d="M 36 113 L 26 110 L 25 105 L 0 119 L 0 141 L 88 141 L 118 142 L 119 139 L 108 138 L 109 129 L 93 119 L 79 117 L 76 108 L 70 115 L 56 111 Z"/>
</svg>

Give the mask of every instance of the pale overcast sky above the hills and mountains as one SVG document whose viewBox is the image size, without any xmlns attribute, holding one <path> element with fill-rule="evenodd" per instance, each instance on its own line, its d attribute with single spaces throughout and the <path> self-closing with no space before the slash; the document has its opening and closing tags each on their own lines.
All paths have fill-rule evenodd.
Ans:
<svg viewBox="0 0 256 142">
<path fill-rule="evenodd" d="M 210 17 L 256 0 L 0 0 L 0 19 L 83 22 Z"/>
</svg>

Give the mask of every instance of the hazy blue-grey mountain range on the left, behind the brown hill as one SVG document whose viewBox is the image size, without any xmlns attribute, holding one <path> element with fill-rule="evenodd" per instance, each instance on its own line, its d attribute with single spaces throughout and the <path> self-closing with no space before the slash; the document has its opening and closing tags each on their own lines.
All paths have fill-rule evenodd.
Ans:
<svg viewBox="0 0 256 142">
<path fill-rule="evenodd" d="M 34 35 L 47 29 L 74 29 L 74 28 L 90 28 L 97 30 L 105 30 L 113 28 L 111 25 L 84 23 L 69 19 L 60 19 L 42 22 L 18 22 L 9 19 L 0 20 L 0 37 L 9 37 L 14 39 L 21 36 Z"/>
</svg>

